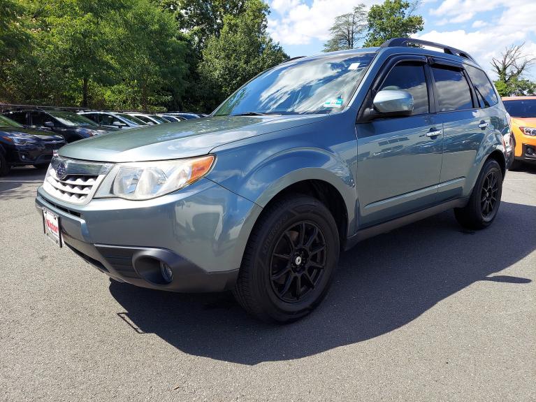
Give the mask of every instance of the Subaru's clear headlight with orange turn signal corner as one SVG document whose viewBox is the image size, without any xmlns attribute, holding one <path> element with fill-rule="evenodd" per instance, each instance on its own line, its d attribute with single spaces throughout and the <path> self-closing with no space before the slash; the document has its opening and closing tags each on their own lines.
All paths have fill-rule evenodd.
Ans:
<svg viewBox="0 0 536 402">
<path fill-rule="evenodd" d="M 190 185 L 210 171 L 214 156 L 115 165 L 95 198 L 154 199 Z"/>
</svg>

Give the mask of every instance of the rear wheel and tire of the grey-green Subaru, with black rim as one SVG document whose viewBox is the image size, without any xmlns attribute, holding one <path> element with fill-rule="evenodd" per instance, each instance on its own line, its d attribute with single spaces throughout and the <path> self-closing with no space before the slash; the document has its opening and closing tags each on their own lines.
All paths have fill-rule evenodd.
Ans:
<svg viewBox="0 0 536 402">
<path fill-rule="evenodd" d="M 495 159 L 484 164 L 469 202 L 463 208 L 454 208 L 456 220 L 467 229 L 484 229 L 497 216 L 502 195 L 502 171 Z"/>
</svg>

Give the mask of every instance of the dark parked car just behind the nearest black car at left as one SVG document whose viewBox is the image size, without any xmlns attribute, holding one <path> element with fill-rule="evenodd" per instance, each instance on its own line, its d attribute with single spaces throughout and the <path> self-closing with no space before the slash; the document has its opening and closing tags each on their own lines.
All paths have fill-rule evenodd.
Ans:
<svg viewBox="0 0 536 402">
<path fill-rule="evenodd" d="M 9 110 L 3 115 L 24 127 L 54 131 L 63 136 L 68 143 L 118 129 L 117 127 L 99 126 L 96 122 L 78 115 L 78 113 L 60 109 Z"/>
</svg>

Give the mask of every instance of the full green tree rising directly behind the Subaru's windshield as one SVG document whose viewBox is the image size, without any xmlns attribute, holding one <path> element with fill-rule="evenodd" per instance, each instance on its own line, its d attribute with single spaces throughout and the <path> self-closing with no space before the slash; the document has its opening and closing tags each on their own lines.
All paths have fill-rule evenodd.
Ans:
<svg viewBox="0 0 536 402">
<path fill-rule="evenodd" d="M 199 73 L 211 93 L 205 108 L 214 108 L 244 82 L 280 64 L 288 56 L 266 33 L 268 6 L 247 0 L 240 15 L 224 15 L 219 36 L 208 38 Z"/>
</svg>

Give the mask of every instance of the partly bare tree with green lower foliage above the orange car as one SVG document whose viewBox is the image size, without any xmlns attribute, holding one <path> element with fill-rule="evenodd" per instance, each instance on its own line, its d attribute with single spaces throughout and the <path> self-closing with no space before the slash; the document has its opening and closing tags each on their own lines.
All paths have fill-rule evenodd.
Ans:
<svg viewBox="0 0 536 402">
<path fill-rule="evenodd" d="M 499 59 L 493 58 L 491 66 L 497 74 L 495 87 L 500 96 L 528 95 L 536 92 L 536 83 L 523 78 L 523 74 L 536 64 L 536 57 L 523 53 L 523 45 L 512 45 L 501 53 Z"/>
</svg>

